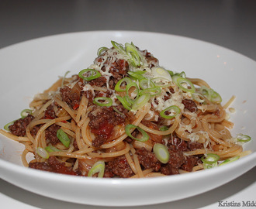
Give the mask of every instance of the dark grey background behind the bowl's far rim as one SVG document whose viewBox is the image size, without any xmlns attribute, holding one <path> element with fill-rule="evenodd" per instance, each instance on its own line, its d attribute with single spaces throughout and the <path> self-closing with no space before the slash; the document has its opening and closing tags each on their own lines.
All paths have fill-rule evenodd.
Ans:
<svg viewBox="0 0 256 209">
<path fill-rule="evenodd" d="M 0 1 L 0 48 L 27 39 L 90 30 L 188 36 L 256 60 L 254 0 Z"/>
</svg>

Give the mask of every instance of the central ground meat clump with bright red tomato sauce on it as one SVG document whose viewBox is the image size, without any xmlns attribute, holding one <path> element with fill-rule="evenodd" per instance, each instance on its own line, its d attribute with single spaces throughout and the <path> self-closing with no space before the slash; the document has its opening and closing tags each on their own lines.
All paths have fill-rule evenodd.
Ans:
<svg viewBox="0 0 256 209">
<path fill-rule="evenodd" d="M 125 109 L 119 106 L 116 108 L 119 108 L 121 113 L 114 111 L 112 107 L 97 107 L 88 114 L 91 132 L 96 135 L 92 146 L 101 146 L 112 135 L 112 130 L 116 125 L 126 122 L 126 114 L 122 113 Z"/>
</svg>

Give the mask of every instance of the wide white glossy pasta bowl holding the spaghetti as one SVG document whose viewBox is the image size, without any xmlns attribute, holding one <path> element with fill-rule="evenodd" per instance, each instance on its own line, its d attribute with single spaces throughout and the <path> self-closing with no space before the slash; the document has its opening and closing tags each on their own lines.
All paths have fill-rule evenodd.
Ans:
<svg viewBox="0 0 256 209">
<path fill-rule="evenodd" d="M 22 144 L 0 135 L 0 177 L 18 187 L 57 200 L 102 206 L 135 206 L 164 203 L 202 194 L 236 179 L 256 165 L 255 100 L 256 63 L 221 46 L 161 33 L 98 31 L 67 33 L 18 43 L 0 50 L 2 69 L 1 127 L 19 118 L 33 95 L 44 91 L 67 70 L 77 74 L 88 67 L 101 46 L 111 40 L 133 42 L 157 57 L 168 70 L 185 71 L 211 85 L 230 107 L 232 135 L 244 133 L 251 154 L 234 163 L 209 170 L 144 179 L 99 179 L 49 173 L 22 166 Z M 243 73 L 242 73 L 243 72 Z M 235 112 L 234 112 L 235 110 Z M 29 156 L 28 156 L 29 158 Z"/>
</svg>

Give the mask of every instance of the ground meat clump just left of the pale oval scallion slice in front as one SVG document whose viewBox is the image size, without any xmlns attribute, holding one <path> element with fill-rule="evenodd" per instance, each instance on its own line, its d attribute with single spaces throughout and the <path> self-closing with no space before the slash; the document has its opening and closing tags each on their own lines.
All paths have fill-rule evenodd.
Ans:
<svg viewBox="0 0 256 209">
<path fill-rule="evenodd" d="M 158 161 L 154 152 L 150 152 L 145 148 L 137 149 L 136 151 L 140 164 L 144 166 L 144 169 L 153 168 L 155 171 L 160 170 L 161 163 Z"/>
</svg>

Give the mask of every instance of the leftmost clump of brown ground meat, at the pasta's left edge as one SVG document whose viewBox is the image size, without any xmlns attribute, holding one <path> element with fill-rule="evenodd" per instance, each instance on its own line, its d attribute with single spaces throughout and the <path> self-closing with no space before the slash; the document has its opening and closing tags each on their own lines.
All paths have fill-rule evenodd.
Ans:
<svg viewBox="0 0 256 209">
<path fill-rule="evenodd" d="M 9 130 L 13 135 L 17 136 L 25 136 L 26 135 L 26 127 L 33 120 L 33 115 L 27 115 L 26 118 L 20 118 L 16 120 L 12 125 L 9 125 Z"/>
</svg>

